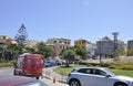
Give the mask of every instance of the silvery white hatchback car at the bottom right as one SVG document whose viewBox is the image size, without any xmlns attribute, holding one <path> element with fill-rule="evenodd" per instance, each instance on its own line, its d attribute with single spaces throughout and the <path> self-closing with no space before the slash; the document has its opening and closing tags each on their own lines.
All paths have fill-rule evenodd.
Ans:
<svg viewBox="0 0 133 86">
<path fill-rule="evenodd" d="M 70 86 L 133 86 L 133 78 L 116 76 L 105 68 L 79 67 L 66 79 Z"/>
</svg>

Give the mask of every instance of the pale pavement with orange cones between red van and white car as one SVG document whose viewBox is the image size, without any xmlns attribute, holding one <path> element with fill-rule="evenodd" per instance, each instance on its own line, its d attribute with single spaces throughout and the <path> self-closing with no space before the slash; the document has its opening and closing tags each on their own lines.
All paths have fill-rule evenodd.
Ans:
<svg viewBox="0 0 133 86">
<path fill-rule="evenodd" d="M 43 68 L 43 77 L 41 80 L 47 83 L 49 86 L 69 86 L 66 84 L 66 76 L 61 76 L 53 72 L 57 67 L 58 66 Z"/>
</svg>

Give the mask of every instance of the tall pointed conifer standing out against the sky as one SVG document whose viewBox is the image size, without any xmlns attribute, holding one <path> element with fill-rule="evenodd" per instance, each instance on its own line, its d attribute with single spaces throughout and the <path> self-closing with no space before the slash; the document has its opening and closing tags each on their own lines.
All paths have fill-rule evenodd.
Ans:
<svg viewBox="0 0 133 86">
<path fill-rule="evenodd" d="M 18 34 L 14 36 L 17 42 L 19 43 L 20 53 L 22 53 L 24 45 L 28 42 L 28 32 L 24 24 L 18 30 Z"/>
</svg>

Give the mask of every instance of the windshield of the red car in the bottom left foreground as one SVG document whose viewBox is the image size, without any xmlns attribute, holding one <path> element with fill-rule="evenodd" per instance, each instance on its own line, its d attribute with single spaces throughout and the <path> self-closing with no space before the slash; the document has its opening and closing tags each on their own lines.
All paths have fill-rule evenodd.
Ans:
<svg viewBox="0 0 133 86">
<path fill-rule="evenodd" d="M 48 85 L 42 83 L 41 80 L 37 80 L 37 82 L 20 84 L 20 85 L 17 85 L 17 86 L 48 86 Z"/>
</svg>

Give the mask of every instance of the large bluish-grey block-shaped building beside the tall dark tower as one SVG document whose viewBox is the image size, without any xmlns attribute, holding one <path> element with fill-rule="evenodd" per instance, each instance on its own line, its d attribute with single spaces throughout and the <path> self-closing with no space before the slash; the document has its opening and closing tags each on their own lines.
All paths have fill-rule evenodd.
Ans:
<svg viewBox="0 0 133 86">
<path fill-rule="evenodd" d="M 124 42 L 117 41 L 116 45 L 117 49 L 123 47 Z M 106 55 L 113 56 L 115 54 L 114 41 L 108 36 L 102 37 L 100 41 L 96 42 L 96 54 L 102 56 Z"/>
</svg>

